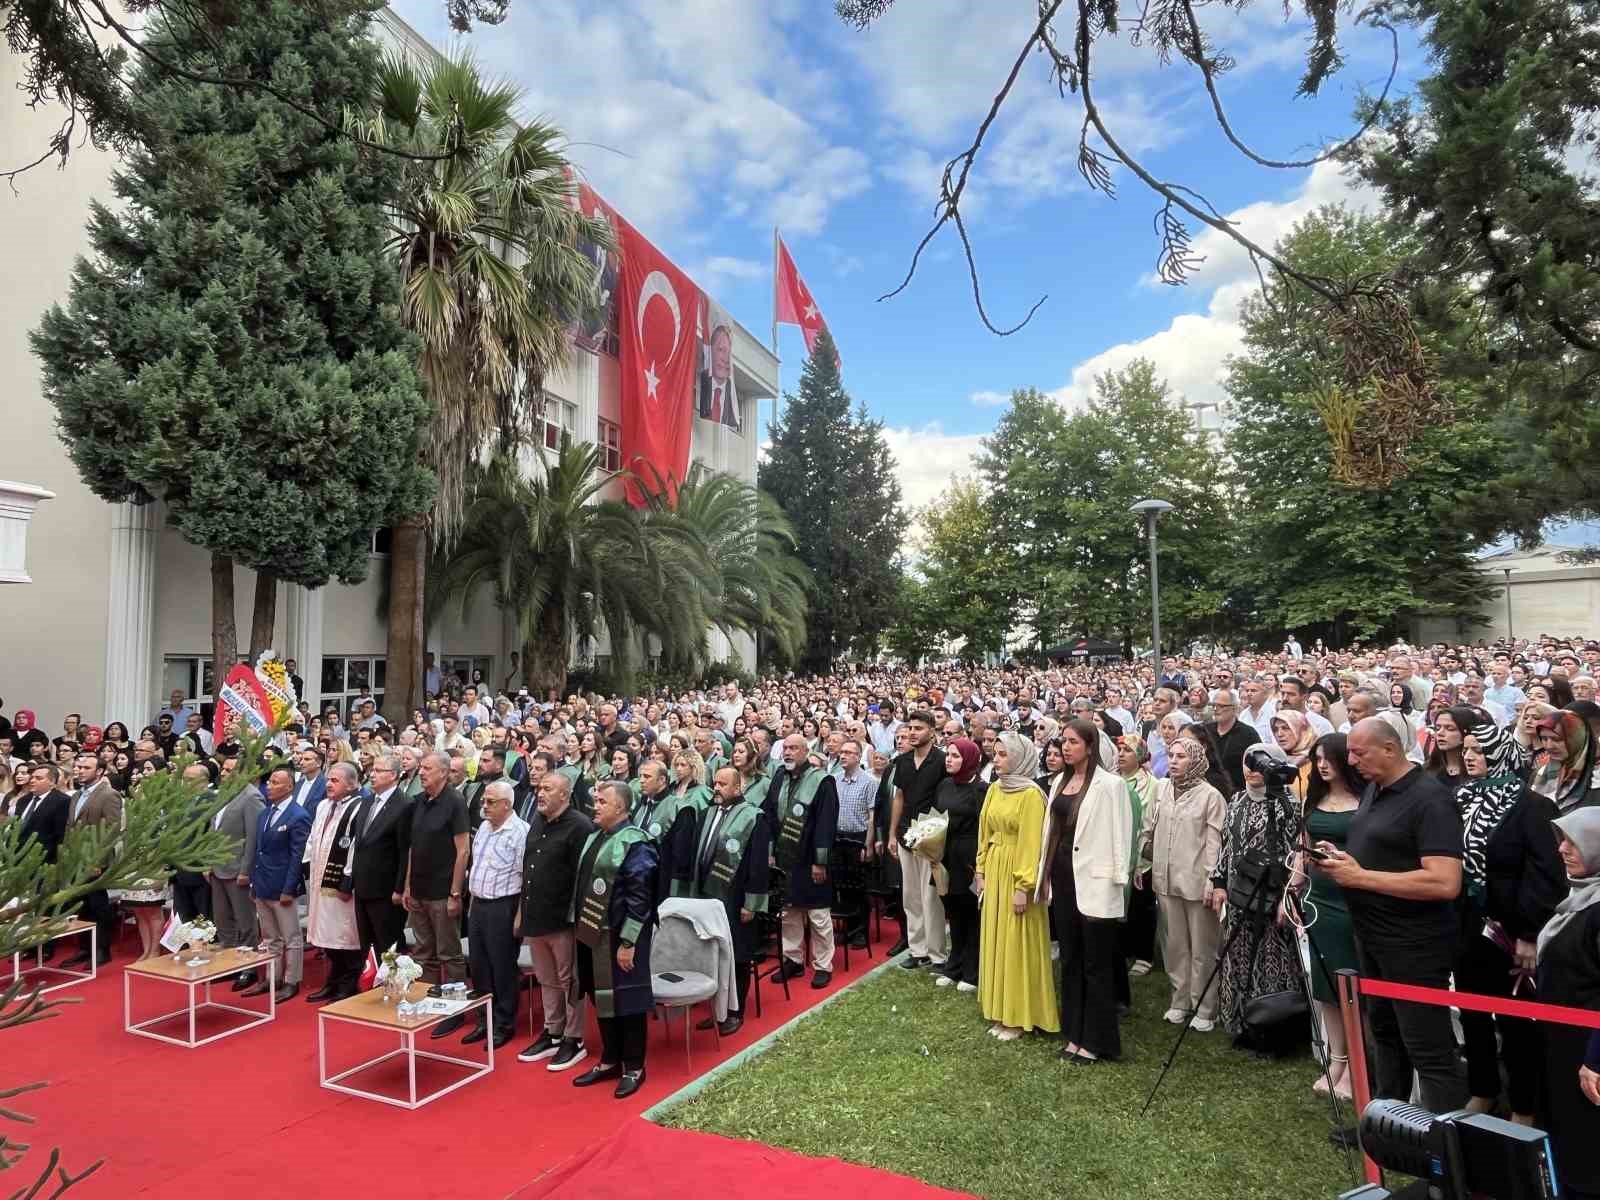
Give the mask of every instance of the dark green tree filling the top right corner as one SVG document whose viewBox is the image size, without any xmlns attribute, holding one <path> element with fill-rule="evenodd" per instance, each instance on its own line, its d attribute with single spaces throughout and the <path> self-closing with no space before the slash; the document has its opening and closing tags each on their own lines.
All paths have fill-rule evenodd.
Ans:
<svg viewBox="0 0 1600 1200">
<path fill-rule="evenodd" d="M 1480 411 L 1538 430 L 1493 496 L 1531 539 L 1546 515 L 1600 510 L 1600 24 L 1570 0 L 1387 10 L 1421 27 L 1434 70 L 1374 109 L 1387 136 L 1354 157 L 1408 230 L 1398 266 L 1448 283 L 1453 322 L 1483 331 Z M 1445 355 L 1440 373 L 1462 368 Z"/>
</svg>

